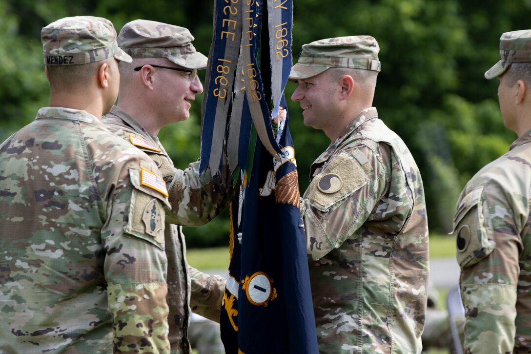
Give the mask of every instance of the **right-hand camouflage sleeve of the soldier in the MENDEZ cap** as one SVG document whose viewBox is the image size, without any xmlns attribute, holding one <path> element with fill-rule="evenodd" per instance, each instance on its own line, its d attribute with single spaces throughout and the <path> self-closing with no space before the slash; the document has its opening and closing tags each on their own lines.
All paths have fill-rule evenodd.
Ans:
<svg viewBox="0 0 531 354">
<path fill-rule="evenodd" d="M 153 171 L 156 171 L 153 169 Z M 169 353 L 164 196 L 124 168 L 101 231 L 114 352 Z M 131 184 L 134 186 L 132 187 Z"/>
</svg>

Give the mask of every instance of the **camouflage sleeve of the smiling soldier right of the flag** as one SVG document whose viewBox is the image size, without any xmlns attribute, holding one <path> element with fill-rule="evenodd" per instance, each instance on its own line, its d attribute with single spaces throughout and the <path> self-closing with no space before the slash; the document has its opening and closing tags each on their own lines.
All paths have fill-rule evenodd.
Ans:
<svg viewBox="0 0 531 354">
<path fill-rule="evenodd" d="M 307 252 L 321 259 L 357 232 L 378 204 L 389 171 L 369 147 L 342 150 L 312 179 L 301 213 Z"/>
</svg>

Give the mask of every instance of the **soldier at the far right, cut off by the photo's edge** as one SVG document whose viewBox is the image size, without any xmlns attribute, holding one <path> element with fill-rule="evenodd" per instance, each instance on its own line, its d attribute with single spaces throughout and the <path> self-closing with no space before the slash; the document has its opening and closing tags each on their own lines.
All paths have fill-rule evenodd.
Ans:
<svg viewBox="0 0 531 354">
<path fill-rule="evenodd" d="M 516 139 L 482 168 L 457 203 L 453 234 L 461 267 L 467 353 L 531 352 L 531 30 L 500 38 L 485 73 Z"/>
</svg>

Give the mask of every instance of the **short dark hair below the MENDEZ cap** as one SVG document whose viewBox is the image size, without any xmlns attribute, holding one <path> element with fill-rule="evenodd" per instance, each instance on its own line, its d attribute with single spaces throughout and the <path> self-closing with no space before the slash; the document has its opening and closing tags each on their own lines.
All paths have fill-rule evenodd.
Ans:
<svg viewBox="0 0 531 354">
<path fill-rule="evenodd" d="M 54 91 L 82 92 L 92 84 L 100 65 L 113 60 L 115 58 L 111 57 L 88 64 L 47 66 L 50 88 Z M 114 70 L 113 65 L 109 65 L 109 68 Z"/>
</svg>

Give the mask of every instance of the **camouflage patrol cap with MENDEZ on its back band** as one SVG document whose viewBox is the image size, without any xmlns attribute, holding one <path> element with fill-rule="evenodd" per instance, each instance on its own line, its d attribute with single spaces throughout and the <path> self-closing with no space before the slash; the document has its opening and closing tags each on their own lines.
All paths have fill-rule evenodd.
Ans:
<svg viewBox="0 0 531 354">
<path fill-rule="evenodd" d="M 113 23 L 101 17 L 65 17 L 42 28 L 40 37 L 48 66 L 88 64 L 110 57 L 132 61 L 118 48 Z"/>
</svg>

